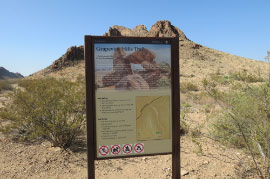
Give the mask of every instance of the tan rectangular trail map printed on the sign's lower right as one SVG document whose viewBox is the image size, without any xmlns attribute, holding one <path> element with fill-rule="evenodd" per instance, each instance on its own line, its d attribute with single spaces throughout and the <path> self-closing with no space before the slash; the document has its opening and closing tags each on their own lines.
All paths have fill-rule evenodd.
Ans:
<svg viewBox="0 0 270 179">
<path fill-rule="evenodd" d="M 170 138 L 170 96 L 136 97 L 137 140 Z"/>
</svg>

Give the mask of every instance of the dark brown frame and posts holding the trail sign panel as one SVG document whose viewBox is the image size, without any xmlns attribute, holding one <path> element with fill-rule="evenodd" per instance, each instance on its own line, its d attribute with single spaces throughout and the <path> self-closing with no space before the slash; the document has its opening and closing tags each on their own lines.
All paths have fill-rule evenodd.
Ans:
<svg viewBox="0 0 270 179">
<path fill-rule="evenodd" d="M 169 37 L 106 37 L 86 35 L 84 45 L 85 76 L 86 76 L 86 117 L 87 117 L 87 157 L 88 157 L 88 178 L 95 179 L 95 160 L 97 158 L 96 141 L 96 93 L 95 93 L 95 64 L 94 64 L 94 42 L 106 40 L 139 44 L 149 41 L 166 40 L 171 44 L 171 105 L 172 105 L 172 152 L 155 153 L 132 156 L 118 156 L 117 158 L 140 157 L 151 155 L 172 154 L 172 178 L 180 178 L 180 91 L 179 91 L 179 38 Z M 116 157 L 111 157 L 116 158 Z"/>
</svg>

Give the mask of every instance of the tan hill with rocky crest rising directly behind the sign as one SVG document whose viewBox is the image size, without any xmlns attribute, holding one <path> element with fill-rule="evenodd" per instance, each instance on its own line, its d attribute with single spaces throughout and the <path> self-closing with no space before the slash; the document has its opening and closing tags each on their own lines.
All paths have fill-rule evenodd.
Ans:
<svg viewBox="0 0 270 179">
<path fill-rule="evenodd" d="M 171 22 L 164 20 L 156 22 L 148 31 L 144 25 L 138 25 L 133 29 L 123 26 L 112 26 L 105 36 L 142 36 L 142 37 L 179 37 L 179 63 L 181 80 L 201 83 L 201 79 L 211 73 L 230 74 L 241 70 L 267 76 L 267 65 L 252 59 L 214 50 L 189 40 L 186 35 Z M 78 75 L 84 75 L 83 46 L 70 47 L 67 52 L 57 59 L 52 65 L 33 75 L 63 76 L 74 79 Z"/>
</svg>

